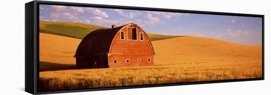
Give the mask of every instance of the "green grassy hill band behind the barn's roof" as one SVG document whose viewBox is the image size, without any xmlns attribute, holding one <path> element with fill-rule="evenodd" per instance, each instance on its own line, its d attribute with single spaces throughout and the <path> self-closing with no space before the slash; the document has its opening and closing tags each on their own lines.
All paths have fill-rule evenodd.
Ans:
<svg viewBox="0 0 271 95">
<path fill-rule="evenodd" d="M 80 24 L 69 22 L 39 22 L 39 32 L 83 39 L 91 31 L 100 28 L 108 28 L 92 24 Z M 147 33 L 151 41 L 164 40 L 180 36 L 158 35 Z"/>
</svg>

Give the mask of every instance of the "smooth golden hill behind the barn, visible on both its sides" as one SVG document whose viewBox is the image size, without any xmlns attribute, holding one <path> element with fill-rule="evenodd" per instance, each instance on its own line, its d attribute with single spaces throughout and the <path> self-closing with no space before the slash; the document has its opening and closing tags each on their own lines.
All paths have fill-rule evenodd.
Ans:
<svg viewBox="0 0 271 95">
<path fill-rule="evenodd" d="M 42 62 L 75 64 L 76 48 L 81 39 L 39 33 L 39 58 Z M 246 46 L 223 40 L 203 37 L 176 37 L 152 41 L 156 54 L 154 62 L 159 64 L 180 64 L 187 62 L 227 62 L 227 59 L 261 59 L 262 47 Z M 261 60 L 259 61 L 261 62 Z"/>
</svg>

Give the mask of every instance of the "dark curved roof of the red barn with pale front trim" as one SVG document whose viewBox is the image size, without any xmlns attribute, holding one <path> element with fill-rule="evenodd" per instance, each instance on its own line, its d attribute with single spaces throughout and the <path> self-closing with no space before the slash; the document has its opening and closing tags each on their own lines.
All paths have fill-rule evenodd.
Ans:
<svg viewBox="0 0 271 95">
<path fill-rule="evenodd" d="M 134 23 L 130 23 L 130 24 L 134 24 Z M 109 52 L 109 49 L 111 47 L 111 43 L 112 43 L 115 35 L 123 27 L 125 27 L 127 25 L 129 25 L 129 24 L 125 24 L 125 25 L 115 27 L 115 28 L 97 29 L 95 31 L 90 32 L 88 35 L 86 35 L 82 39 L 81 43 L 79 44 L 79 46 L 76 50 L 74 57 L 86 58 L 86 57 L 93 57 L 93 56 L 107 54 Z M 134 24 L 134 25 L 137 26 L 136 24 Z M 137 26 L 137 27 L 139 27 L 139 26 Z M 139 27 L 139 28 L 142 30 L 141 27 Z M 151 45 L 151 47 L 152 47 L 152 45 Z M 152 50 L 154 53 L 153 47 L 152 47 Z"/>
</svg>

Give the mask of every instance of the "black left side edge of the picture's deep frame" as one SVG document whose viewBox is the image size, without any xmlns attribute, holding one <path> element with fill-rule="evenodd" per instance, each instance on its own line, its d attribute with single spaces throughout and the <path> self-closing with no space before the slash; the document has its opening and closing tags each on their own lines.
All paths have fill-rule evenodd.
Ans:
<svg viewBox="0 0 271 95">
<path fill-rule="evenodd" d="M 34 1 L 25 3 L 25 92 L 34 94 Z"/>
</svg>

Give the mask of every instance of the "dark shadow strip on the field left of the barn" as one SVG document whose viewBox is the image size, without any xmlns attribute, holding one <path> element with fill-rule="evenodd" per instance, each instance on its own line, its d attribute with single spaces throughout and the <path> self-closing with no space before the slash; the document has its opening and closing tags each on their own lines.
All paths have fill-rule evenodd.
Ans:
<svg viewBox="0 0 271 95">
<path fill-rule="evenodd" d="M 77 69 L 76 65 L 39 61 L 39 71 L 58 71 L 71 69 Z"/>
</svg>

